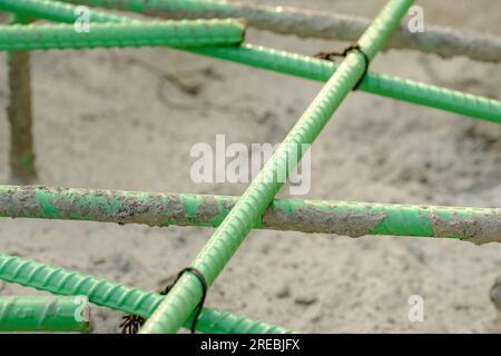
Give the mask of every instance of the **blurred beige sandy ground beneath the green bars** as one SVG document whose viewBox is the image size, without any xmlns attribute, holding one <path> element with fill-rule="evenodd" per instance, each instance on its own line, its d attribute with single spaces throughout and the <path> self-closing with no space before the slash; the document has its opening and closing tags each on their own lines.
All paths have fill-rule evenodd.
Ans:
<svg viewBox="0 0 501 356">
<path fill-rule="evenodd" d="M 374 17 L 384 1 L 286 3 Z M 420 3 L 426 22 L 501 36 L 497 0 Z M 255 30 L 248 39 L 306 55 L 344 46 Z M 245 185 L 190 180 L 191 146 L 214 145 L 217 134 L 228 142 L 278 142 L 321 88 L 168 49 L 36 52 L 32 68 L 38 184 L 46 186 L 239 195 Z M 411 51 L 390 51 L 372 66 L 497 99 L 500 69 Z M 1 66 L 1 107 L 7 90 Z M 499 207 L 500 138 L 492 123 L 356 92 L 313 147 L 307 197 Z M 9 182 L 8 145 L 2 110 L 2 184 Z M 2 219 L 0 249 L 159 290 L 210 233 Z M 501 246 L 493 244 L 253 231 L 212 287 L 207 306 L 302 332 L 499 333 L 488 293 L 500 271 Z M 38 291 L 0 283 L 0 293 Z M 412 295 L 424 298 L 423 323 L 407 319 Z M 121 315 L 94 307 L 94 332 L 117 332 Z"/>
</svg>

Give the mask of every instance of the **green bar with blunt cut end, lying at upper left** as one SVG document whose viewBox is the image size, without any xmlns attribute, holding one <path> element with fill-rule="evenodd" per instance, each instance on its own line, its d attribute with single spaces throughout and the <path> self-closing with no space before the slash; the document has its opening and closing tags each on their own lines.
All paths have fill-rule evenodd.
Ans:
<svg viewBox="0 0 501 356">
<path fill-rule="evenodd" d="M 94 23 L 89 32 L 72 24 L 0 26 L 0 50 L 81 49 L 140 46 L 238 46 L 244 24 L 235 20 Z"/>
</svg>

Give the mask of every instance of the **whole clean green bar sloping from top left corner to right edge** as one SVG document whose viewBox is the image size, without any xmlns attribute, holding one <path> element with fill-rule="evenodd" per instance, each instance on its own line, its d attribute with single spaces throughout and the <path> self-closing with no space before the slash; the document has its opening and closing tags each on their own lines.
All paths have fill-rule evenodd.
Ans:
<svg viewBox="0 0 501 356">
<path fill-rule="evenodd" d="M 2 10 L 60 22 L 75 22 L 75 8 L 52 0 L 0 0 Z M 90 10 L 89 18 L 95 22 L 132 21 L 131 18 L 95 10 Z M 318 81 L 326 81 L 338 68 L 331 61 L 254 44 L 185 50 Z M 360 90 L 501 123 L 501 101 L 456 90 L 372 72 L 365 76 Z"/>
</svg>

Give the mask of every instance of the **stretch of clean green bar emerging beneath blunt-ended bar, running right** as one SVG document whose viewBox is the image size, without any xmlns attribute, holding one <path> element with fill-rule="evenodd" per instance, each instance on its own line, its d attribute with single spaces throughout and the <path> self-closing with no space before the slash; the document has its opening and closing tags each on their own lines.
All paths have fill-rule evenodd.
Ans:
<svg viewBox="0 0 501 356">
<path fill-rule="evenodd" d="M 337 63 L 331 61 L 254 44 L 187 50 L 317 81 L 326 81 L 338 68 Z M 358 90 L 501 123 L 501 101 L 458 90 L 375 72 L 365 76 Z"/>
</svg>

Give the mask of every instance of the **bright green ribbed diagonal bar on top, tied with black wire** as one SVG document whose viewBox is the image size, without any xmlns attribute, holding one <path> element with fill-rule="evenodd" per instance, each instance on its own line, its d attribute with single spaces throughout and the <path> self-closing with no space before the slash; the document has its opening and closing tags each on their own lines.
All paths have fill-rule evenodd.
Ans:
<svg viewBox="0 0 501 356">
<path fill-rule="evenodd" d="M 412 0 L 390 0 L 364 32 L 358 40 L 358 46 L 369 59 L 372 59 L 382 48 L 412 2 Z M 283 172 L 285 177 L 288 177 L 297 161 L 301 160 L 303 152 L 298 148 L 315 140 L 343 99 L 364 75 L 367 65 L 364 56 L 358 51 L 352 51 L 346 56 L 338 70 L 316 96 L 256 179 L 196 256 L 191 267 L 205 276 L 209 286 L 278 192 L 283 185 L 278 177 Z M 202 294 L 198 278 L 193 274 L 184 274 L 146 322 L 140 333 L 176 333 L 199 303 Z"/>
</svg>

